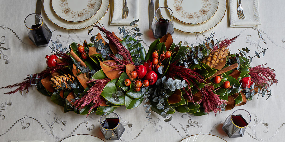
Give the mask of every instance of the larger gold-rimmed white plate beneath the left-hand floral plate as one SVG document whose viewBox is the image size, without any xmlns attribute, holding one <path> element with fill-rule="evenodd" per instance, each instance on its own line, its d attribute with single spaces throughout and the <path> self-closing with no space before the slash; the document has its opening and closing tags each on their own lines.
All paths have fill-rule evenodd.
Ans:
<svg viewBox="0 0 285 142">
<path fill-rule="evenodd" d="M 51 0 L 44 0 L 44 12 L 46 13 L 48 19 L 60 28 L 64 28 L 66 30 L 82 30 L 91 27 L 94 23 L 97 23 L 97 20 L 100 21 L 107 13 L 109 5 L 109 0 L 102 0 L 100 9 L 92 18 L 78 23 L 66 22 L 60 19 L 52 10 Z"/>
</svg>

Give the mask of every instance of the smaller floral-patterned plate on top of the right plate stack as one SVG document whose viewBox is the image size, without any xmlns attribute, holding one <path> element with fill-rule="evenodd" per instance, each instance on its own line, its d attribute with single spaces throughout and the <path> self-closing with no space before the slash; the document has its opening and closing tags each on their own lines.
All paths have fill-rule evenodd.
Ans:
<svg viewBox="0 0 285 142">
<path fill-rule="evenodd" d="M 214 16 L 218 0 L 166 0 L 173 16 L 185 24 L 200 24 Z"/>
</svg>

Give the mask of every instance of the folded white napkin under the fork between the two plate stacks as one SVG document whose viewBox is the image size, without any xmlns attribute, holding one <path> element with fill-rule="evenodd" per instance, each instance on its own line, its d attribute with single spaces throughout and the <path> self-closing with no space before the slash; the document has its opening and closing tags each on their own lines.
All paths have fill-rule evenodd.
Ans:
<svg viewBox="0 0 285 142">
<path fill-rule="evenodd" d="M 139 0 L 127 0 L 129 15 L 123 19 L 124 0 L 112 0 L 110 25 L 130 25 L 134 20 L 139 19 Z M 138 23 L 136 23 L 138 25 Z"/>
</svg>

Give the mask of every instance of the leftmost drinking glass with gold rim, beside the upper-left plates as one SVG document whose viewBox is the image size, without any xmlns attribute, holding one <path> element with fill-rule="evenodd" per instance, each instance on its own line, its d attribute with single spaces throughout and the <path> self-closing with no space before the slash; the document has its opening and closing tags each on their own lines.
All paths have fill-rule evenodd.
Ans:
<svg viewBox="0 0 285 142">
<path fill-rule="evenodd" d="M 38 47 L 47 46 L 52 37 L 52 32 L 46 26 L 42 17 L 32 13 L 25 18 L 29 39 Z"/>
</svg>

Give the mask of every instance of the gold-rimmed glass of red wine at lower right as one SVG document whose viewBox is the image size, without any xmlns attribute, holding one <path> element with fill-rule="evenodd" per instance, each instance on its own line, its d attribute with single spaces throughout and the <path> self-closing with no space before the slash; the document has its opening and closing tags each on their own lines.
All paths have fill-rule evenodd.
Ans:
<svg viewBox="0 0 285 142">
<path fill-rule="evenodd" d="M 242 137 L 250 121 L 251 115 L 247 110 L 237 109 L 226 118 L 223 130 L 230 138 Z"/>
</svg>

